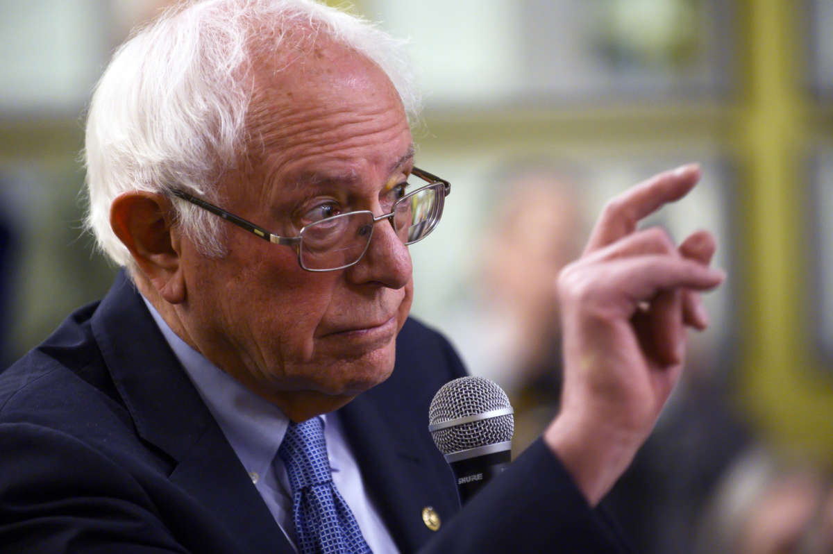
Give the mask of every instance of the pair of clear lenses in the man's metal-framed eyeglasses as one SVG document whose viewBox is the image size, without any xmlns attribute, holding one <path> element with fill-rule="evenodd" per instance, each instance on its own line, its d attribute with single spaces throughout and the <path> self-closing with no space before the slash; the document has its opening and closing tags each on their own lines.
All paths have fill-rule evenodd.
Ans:
<svg viewBox="0 0 833 554">
<path fill-rule="evenodd" d="M 423 187 L 402 197 L 393 207 L 393 228 L 405 244 L 426 237 L 436 226 L 441 185 Z M 357 262 L 370 244 L 373 217 L 370 212 L 347 212 L 304 227 L 302 266 L 334 269 Z"/>
</svg>

